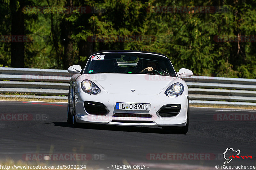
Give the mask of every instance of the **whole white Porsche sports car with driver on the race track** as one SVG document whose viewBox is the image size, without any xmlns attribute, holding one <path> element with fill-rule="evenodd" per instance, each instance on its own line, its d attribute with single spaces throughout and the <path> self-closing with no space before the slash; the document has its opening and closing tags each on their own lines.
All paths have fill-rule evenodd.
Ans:
<svg viewBox="0 0 256 170">
<path fill-rule="evenodd" d="M 174 133 L 188 132 L 188 86 L 163 54 L 112 50 L 93 53 L 74 73 L 68 92 L 67 121 L 111 125 L 157 125 Z"/>
</svg>

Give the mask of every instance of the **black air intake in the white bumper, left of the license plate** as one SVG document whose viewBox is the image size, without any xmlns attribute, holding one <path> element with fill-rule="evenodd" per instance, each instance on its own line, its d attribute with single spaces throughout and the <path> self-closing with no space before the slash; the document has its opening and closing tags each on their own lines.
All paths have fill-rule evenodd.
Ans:
<svg viewBox="0 0 256 170">
<path fill-rule="evenodd" d="M 108 108 L 104 104 L 94 101 L 85 101 L 84 109 L 90 115 L 105 116 L 109 113 Z"/>
</svg>

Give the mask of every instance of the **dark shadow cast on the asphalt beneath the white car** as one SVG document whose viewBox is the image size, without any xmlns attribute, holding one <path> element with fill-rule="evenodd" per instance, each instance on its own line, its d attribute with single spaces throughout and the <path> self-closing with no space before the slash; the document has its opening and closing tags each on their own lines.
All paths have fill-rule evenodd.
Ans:
<svg viewBox="0 0 256 170">
<path fill-rule="evenodd" d="M 68 122 L 52 122 L 55 126 L 74 128 Z M 159 127 L 139 127 L 139 126 L 115 126 L 105 124 L 82 123 L 79 125 L 81 129 L 97 129 L 97 130 L 111 130 L 111 131 L 124 131 L 124 132 L 141 132 L 141 133 L 158 133 L 158 134 L 178 134 L 175 131 L 164 130 Z"/>
</svg>

